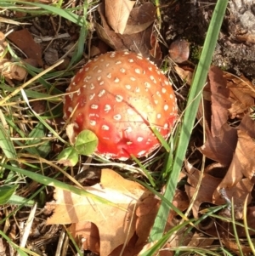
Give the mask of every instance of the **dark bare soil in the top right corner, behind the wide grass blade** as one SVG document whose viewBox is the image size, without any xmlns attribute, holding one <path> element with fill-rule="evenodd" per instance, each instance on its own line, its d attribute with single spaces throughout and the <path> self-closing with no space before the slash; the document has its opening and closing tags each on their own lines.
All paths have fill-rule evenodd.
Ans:
<svg viewBox="0 0 255 256">
<path fill-rule="evenodd" d="M 178 38 L 190 42 L 190 60 L 199 60 L 207 27 L 217 1 L 179 0 L 171 5 L 162 3 L 161 34 L 169 45 Z M 237 76 L 243 74 L 255 82 L 255 4 L 250 0 L 229 1 L 224 24 L 218 38 L 212 65 Z"/>
</svg>

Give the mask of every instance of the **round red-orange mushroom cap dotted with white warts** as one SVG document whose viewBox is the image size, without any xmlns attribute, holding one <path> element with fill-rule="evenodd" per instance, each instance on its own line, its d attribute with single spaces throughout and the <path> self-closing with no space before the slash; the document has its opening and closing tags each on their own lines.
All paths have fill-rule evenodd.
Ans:
<svg viewBox="0 0 255 256">
<path fill-rule="evenodd" d="M 167 139 L 177 116 L 167 77 L 140 54 L 102 54 L 73 77 L 66 89 L 64 118 L 71 115 L 74 133 L 89 129 L 98 136 L 96 153 L 127 160 L 159 147 L 151 127 Z"/>
</svg>

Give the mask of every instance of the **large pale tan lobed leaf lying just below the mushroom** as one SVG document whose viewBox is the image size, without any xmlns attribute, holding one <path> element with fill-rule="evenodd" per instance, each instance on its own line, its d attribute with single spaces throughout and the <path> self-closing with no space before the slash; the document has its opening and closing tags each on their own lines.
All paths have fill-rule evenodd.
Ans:
<svg viewBox="0 0 255 256">
<path fill-rule="evenodd" d="M 46 206 L 54 208 L 47 225 L 93 222 L 99 229 L 100 255 L 108 255 L 133 236 L 135 209 L 151 193 L 142 185 L 123 179 L 111 169 L 103 169 L 100 184 L 85 187 L 85 190 L 115 203 L 116 207 L 94 201 L 91 197 L 56 189 L 56 202 L 49 202 Z"/>
</svg>

